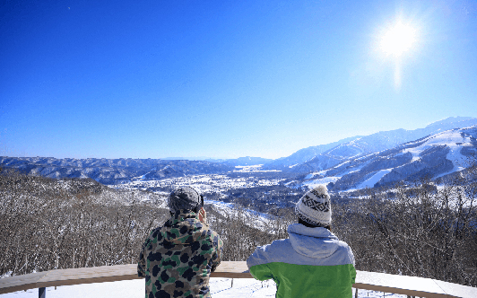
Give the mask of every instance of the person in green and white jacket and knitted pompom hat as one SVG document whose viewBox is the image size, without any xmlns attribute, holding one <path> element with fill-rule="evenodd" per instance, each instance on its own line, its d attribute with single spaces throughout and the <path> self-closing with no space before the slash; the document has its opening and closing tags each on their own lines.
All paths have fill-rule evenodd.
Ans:
<svg viewBox="0 0 477 298">
<path fill-rule="evenodd" d="M 299 223 L 289 239 L 257 247 L 248 257 L 250 274 L 273 278 L 275 297 L 352 297 L 356 270 L 351 248 L 331 232 L 330 196 L 325 185 L 309 190 L 295 206 Z"/>
</svg>

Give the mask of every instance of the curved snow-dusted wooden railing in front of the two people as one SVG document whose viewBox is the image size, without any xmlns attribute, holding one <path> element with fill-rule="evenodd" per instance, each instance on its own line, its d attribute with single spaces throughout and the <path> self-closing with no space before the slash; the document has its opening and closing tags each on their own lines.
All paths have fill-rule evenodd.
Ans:
<svg viewBox="0 0 477 298">
<path fill-rule="evenodd" d="M 45 288 L 59 285 L 81 285 L 139 279 L 137 266 L 117 265 L 86 267 L 74 269 L 50 270 L 23 276 L 11 276 L 0 279 L 0 294 L 39 288 L 39 297 L 45 297 Z M 224 261 L 212 273 L 211 277 L 252 278 L 246 262 Z M 385 273 L 358 271 L 357 289 L 373 290 L 408 296 L 444 298 L 476 298 L 477 288 L 456 285 L 437 279 L 415 276 L 395 276 Z"/>
</svg>

